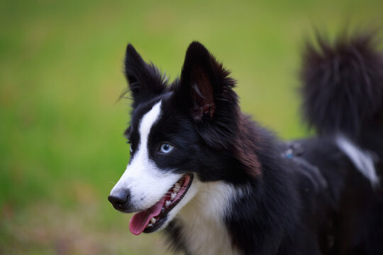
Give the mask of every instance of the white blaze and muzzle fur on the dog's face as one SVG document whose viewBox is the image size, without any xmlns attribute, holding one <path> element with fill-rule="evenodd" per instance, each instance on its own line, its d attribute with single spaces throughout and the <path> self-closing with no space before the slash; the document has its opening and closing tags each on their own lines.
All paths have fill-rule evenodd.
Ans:
<svg viewBox="0 0 383 255">
<path fill-rule="evenodd" d="M 161 101 L 143 115 L 138 126 L 140 134 L 138 151 L 135 152 L 131 164 L 126 167 L 126 171 L 111 191 L 113 194 L 120 189 L 128 189 L 131 194 L 131 203 L 137 210 L 146 210 L 155 205 L 182 177 L 180 174 L 172 174 L 159 169 L 149 158 L 148 137 L 160 115 Z"/>
</svg>

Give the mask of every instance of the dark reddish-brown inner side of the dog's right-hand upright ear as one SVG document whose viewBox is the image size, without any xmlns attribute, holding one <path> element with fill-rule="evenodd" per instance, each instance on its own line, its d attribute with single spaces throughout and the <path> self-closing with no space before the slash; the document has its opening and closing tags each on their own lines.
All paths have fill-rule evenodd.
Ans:
<svg viewBox="0 0 383 255">
<path fill-rule="evenodd" d="M 180 85 L 189 99 L 189 110 L 194 120 L 213 118 L 216 96 L 222 93 L 223 79 L 228 71 L 199 42 L 191 42 L 187 49 Z"/>
</svg>

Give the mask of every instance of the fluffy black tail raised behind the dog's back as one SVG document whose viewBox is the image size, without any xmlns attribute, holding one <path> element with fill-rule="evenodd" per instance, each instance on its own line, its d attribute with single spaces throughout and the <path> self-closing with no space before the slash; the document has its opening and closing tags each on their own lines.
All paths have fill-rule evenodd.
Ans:
<svg viewBox="0 0 383 255">
<path fill-rule="evenodd" d="M 374 33 L 343 35 L 334 43 L 317 39 L 303 55 L 304 118 L 320 135 L 357 140 L 382 123 L 383 52 Z"/>
</svg>

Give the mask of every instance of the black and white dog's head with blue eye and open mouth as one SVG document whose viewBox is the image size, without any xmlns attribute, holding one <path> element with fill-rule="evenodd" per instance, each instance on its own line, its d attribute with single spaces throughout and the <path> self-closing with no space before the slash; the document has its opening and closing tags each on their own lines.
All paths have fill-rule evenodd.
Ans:
<svg viewBox="0 0 383 255">
<path fill-rule="evenodd" d="M 199 42 L 189 45 L 172 84 L 132 45 L 125 74 L 133 97 L 126 137 L 131 159 L 109 200 L 131 218 L 133 234 L 165 227 L 199 190 L 199 183 L 238 179 L 237 95 L 229 72 Z"/>
</svg>

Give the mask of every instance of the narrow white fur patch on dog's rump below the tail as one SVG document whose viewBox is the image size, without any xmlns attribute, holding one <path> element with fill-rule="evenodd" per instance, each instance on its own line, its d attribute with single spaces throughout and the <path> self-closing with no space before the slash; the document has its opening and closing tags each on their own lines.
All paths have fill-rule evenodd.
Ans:
<svg viewBox="0 0 383 255">
<path fill-rule="evenodd" d="M 374 159 L 370 152 L 362 150 L 344 135 L 336 137 L 336 144 L 344 152 L 356 168 L 375 186 L 379 183 L 377 172 L 374 167 Z"/>
</svg>

